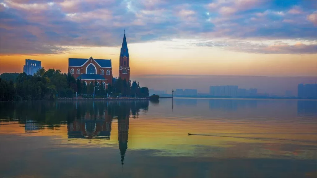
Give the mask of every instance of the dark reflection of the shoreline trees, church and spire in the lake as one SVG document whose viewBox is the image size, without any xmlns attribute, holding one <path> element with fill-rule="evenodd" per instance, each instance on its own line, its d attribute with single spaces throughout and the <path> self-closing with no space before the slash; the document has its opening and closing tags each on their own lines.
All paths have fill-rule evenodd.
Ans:
<svg viewBox="0 0 317 178">
<path fill-rule="evenodd" d="M 121 164 L 128 148 L 129 118 L 147 111 L 149 101 L 58 101 L 2 102 L 1 120 L 18 119 L 35 129 L 67 123 L 68 138 L 109 139 L 112 122 L 118 122 Z M 32 129 L 31 128 L 31 129 Z M 28 128 L 29 129 L 29 128 Z"/>
</svg>

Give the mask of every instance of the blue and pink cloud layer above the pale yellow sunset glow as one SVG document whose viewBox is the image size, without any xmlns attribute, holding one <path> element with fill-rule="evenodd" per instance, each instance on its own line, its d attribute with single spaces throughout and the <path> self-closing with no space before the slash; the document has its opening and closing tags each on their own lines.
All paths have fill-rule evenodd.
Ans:
<svg viewBox="0 0 317 178">
<path fill-rule="evenodd" d="M 120 46 L 123 29 L 128 43 L 219 37 L 312 40 L 316 12 L 310 3 L 279 8 L 268 1 L 1 1 L 1 54 Z"/>
</svg>

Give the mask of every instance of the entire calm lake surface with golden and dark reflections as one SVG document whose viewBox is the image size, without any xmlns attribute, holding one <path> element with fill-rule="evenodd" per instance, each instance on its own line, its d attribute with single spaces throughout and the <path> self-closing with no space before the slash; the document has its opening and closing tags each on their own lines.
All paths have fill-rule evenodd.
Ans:
<svg viewBox="0 0 317 178">
<path fill-rule="evenodd" d="M 1 177 L 316 177 L 316 100 L 1 102 L 0 116 Z"/>
</svg>

